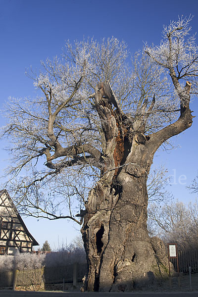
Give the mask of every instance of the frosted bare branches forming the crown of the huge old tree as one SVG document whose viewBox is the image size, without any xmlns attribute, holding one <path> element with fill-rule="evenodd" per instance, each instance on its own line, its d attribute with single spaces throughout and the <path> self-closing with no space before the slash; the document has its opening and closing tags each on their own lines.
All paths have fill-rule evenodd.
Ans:
<svg viewBox="0 0 198 297">
<path fill-rule="evenodd" d="M 160 45 L 146 44 L 131 61 L 125 42 L 89 39 L 67 42 L 61 58 L 42 61 L 39 73 L 29 71 L 38 95 L 9 98 L 1 134 L 11 142 L 6 174 L 22 213 L 78 222 L 75 208 L 108 170 L 102 126 L 109 123 L 96 108 L 98 83 L 110 82 L 113 108 L 124 114 L 128 134 L 144 126 L 152 135 L 174 123 L 185 107 L 183 98 L 180 108 L 185 81 L 192 83 L 192 95 L 198 92 L 198 47 L 190 21 L 164 26 Z"/>
</svg>

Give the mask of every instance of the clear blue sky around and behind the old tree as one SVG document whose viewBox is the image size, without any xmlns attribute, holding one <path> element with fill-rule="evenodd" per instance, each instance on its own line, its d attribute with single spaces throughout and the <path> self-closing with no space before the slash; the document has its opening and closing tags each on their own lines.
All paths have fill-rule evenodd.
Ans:
<svg viewBox="0 0 198 297">
<path fill-rule="evenodd" d="M 9 96 L 35 95 L 33 82 L 25 76 L 26 68 L 40 68 L 40 60 L 60 55 L 65 40 L 83 37 L 100 40 L 114 36 L 124 40 L 131 52 L 143 42 L 158 44 L 163 24 L 178 15 L 194 15 L 193 32 L 198 31 L 197 0 L 0 0 L 0 108 Z M 168 174 L 174 175 L 170 187 L 175 198 L 194 200 L 186 189 L 198 171 L 198 99 L 192 102 L 193 126 L 174 138 L 176 149 L 157 152 L 154 164 L 163 163 Z M 4 124 L 0 116 L 0 125 Z M 6 166 L 7 154 L 0 141 L 0 174 Z M 181 180 L 181 175 L 186 180 Z M 180 179 L 180 182 L 179 182 Z M 183 184 L 181 184 L 181 181 Z M 10 193 L 11 196 L 11 193 Z M 24 219 L 28 229 L 41 244 L 48 240 L 54 248 L 62 241 L 69 243 L 79 232 L 66 220 L 47 221 Z"/>
</svg>

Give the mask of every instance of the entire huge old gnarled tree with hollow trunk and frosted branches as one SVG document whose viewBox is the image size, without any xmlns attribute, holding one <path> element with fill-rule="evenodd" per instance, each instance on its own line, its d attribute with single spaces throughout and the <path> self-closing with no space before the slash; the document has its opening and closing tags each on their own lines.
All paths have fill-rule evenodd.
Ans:
<svg viewBox="0 0 198 297">
<path fill-rule="evenodd" d="M 147 179 L 156 150 L 192 125 L 189 22 L 164 26 L 160 45 L 128 64 L 115 38 L 67 43 L 61 59 L 28 73 L 38 95 L 6 104 L 12 196 L 21 213 L 83 224 L 85 290 L 131 291 L 166 273 L 164 246 L 148 236 Z"/>
</svg>

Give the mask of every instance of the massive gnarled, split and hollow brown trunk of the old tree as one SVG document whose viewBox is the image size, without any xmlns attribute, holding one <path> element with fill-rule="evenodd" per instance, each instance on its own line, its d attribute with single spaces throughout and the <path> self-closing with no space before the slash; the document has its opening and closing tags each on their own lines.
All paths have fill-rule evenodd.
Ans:
<svg viewBox="0 0 198 297">
<path fill-rule="evenodd" d="M 85 290 L 127 292 L 167 276 L 165 247 L 157 238 L 148 236 L 147 178 L 156 149 L 192 124 L 186 100 L 189 91 L 187 85 L 180 118 L 147 136 L 146 113 L 144 119 L 138 116 L 130 123 L 109 83 L 101 83 L 96 89 L 105 139 L 101 160 L 104 166 L 85 204 L 81 230 L 88 261 Z M 149 110 L 153 105 L 154 98 Z"/>
</svg>

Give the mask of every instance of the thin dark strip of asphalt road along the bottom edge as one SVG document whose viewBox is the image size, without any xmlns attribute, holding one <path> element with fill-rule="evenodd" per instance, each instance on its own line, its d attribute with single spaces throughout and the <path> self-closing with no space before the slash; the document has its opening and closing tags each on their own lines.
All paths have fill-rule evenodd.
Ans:
<svg viewBox="0 0 198 297">
<path fill-rule="evenodd" d="M 0 297 L 198 297 L 197 293 L 55 293 L 0 291 Z"/>
</svg>

